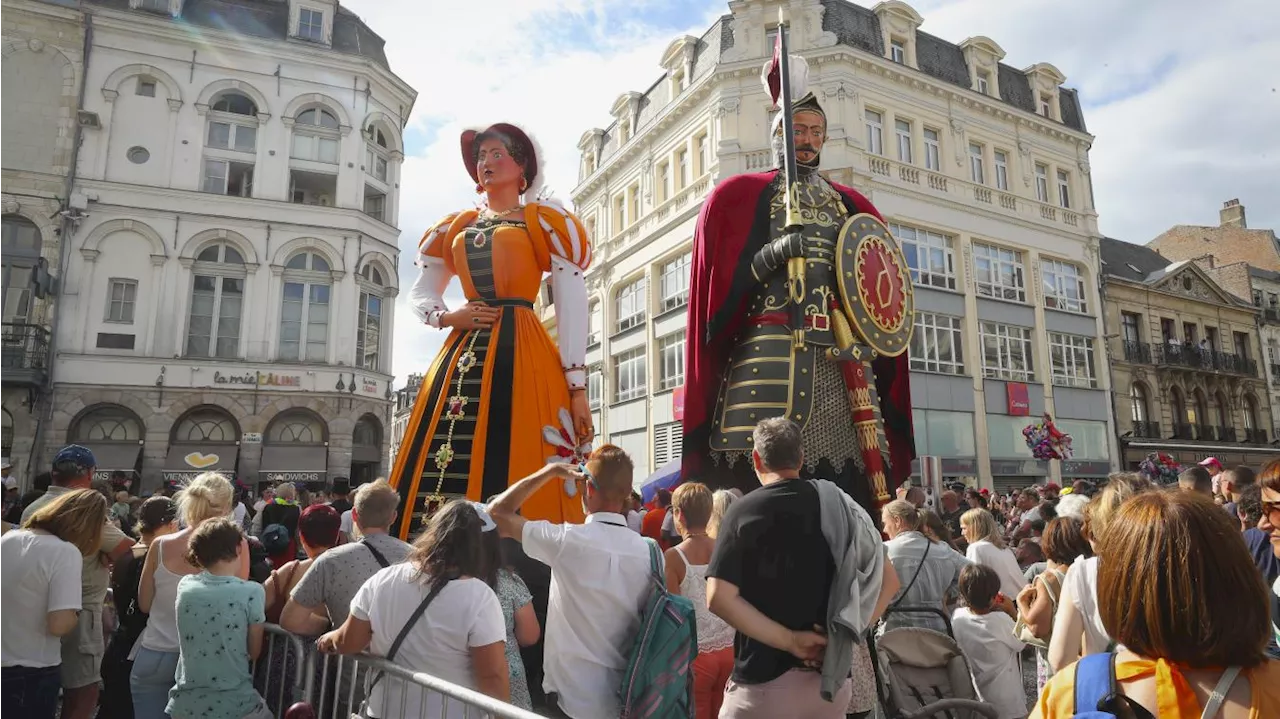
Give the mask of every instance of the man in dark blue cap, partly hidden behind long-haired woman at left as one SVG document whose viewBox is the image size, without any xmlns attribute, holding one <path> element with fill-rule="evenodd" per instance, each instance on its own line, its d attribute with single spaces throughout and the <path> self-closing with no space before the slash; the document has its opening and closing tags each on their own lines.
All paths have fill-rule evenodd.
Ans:
<svg viewBox="0 0 1280 719">
<path fill-rule="evenodd" d="M 87 448 L 72 444 L 60 449 L 54 457 L 49 491 L 22 513 L 22 521 L 26 522 L 59 495 L 90 489 L 96 467 L 97 461 Z M 79 624 L 63 637 L 63 719 L 90 719 L 97 707 L 97 683 L 106 650 L 102 640 L 102 605 L 111 578 L 109 567 L 132 548 L 133 540 L 115 525 L 104 522 L 97 553 L 84 558 Z"/>
</svg>

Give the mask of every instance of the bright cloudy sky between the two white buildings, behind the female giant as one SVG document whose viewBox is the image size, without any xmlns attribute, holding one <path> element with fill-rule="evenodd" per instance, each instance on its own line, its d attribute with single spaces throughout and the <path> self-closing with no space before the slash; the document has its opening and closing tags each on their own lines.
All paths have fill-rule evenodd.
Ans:
<svg viewBox="0 0 1280 719">
<path fill-rule="evenodd" d="M 392 69 L 419 92 L 407 134 L 415 138 L 401 174 L 401 294 L 396 307 L 397 384 L 430 366 L 445 333 L 408 307 L 413 260 L 424 232 L 475 205 L 458 134 L 495 122 L 521 125 L 547 157 L 547 186 L 568 202 L 577 183 L 577 141 L 608 124 L 625 91 L 662 73 L 662 51 L 678 35 L 701 35 L 724 12 L 698 0 L 347 0 L 387 40 Z M 445 294 L 462 303 L 457 281 Z"/>
</svg>

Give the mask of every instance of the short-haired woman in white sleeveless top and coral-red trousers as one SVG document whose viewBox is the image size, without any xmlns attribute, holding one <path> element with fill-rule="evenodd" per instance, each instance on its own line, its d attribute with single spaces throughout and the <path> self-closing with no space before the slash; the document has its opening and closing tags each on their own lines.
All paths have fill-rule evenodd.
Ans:
<svg viewBox="0 0 1280 719">
<path fill-rule="evenodd" d="M 698 613 L 698 656 L 694 659 L 698 719 L 719 716 L 724 684 L 733 672 L 733 627 L 707 608 L 707 565 L 716 549 L 716 540 L 708 536 L 707 522 L 713 507 L 707 485 L 680 485 L 671 495 L 671 513 L 676 531 L 685 541 L 666 553 L 667 590 L 687 596 Z"/>
</svg>

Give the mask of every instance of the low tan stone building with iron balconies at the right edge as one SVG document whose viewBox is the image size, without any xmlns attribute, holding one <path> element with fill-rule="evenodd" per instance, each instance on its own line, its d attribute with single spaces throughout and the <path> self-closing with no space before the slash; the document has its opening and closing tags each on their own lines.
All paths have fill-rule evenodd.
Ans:
<svg viewBox="0 0 1280 719">
<path fill-rule="evenodd" d="M 1152 452 L 1194 464 L 1261 467 L 1271 406 L 1260 367 L 1260 310 L 1199 262 L 1102 239 L 1105 319 L 1126 468 Z"/>
</svg>

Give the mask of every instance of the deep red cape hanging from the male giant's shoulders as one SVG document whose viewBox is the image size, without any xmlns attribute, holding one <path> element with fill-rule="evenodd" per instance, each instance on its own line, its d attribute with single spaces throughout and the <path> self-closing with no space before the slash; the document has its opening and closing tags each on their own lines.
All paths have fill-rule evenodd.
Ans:
<svg viewBox="0 0 1280 719">
<path fill-rule="evenodd" d="M 733 338 L 746 320 L 746 298 L 755 280 L 750 264 L 768 241 L 768 197 L 764 191 L 777 170 L 733 175 L 721 182 L 703 203 L 694 229 L 685 356 L 685 415 L 681 481 L 696 480 L 709 461 L 712 412 L 724 376 Z M 881 217 L 856 189 L 832 186 L 851 214 Z M 883 220 L 883 217 L 881 217 Z M 890 490 L 911 473 L 915 441 L 911 430 L 911 386 L 906 353 L 872 363 L 881 415 L 890 448 Z"/>
</svg>

